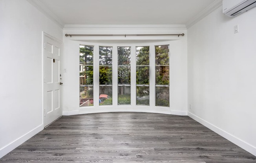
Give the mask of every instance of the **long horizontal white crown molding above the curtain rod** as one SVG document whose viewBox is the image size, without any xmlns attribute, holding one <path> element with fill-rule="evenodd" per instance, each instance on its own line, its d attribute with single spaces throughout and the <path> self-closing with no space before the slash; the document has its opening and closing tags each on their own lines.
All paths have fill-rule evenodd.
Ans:
<svg viewBox="0 0 256 163">
<path fill-rule="evenodd" d="M 186 30 L 184 24 L 172 25 L 82 25 L 82 24 L 65 24 L 64 29 L 151 29 L 151 30 Z"/>
</svg>

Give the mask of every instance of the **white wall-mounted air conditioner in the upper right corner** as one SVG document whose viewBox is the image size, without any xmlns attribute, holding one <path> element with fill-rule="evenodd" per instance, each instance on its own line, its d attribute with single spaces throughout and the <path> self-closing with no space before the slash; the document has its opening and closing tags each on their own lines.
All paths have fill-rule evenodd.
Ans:
<svg viewBox="0 0 256 163">
<path fill-rule="evenodd" d="M 235 17 L 256 6 L 256 0 L 223 0 L 223 13 Z"/>
</svg>

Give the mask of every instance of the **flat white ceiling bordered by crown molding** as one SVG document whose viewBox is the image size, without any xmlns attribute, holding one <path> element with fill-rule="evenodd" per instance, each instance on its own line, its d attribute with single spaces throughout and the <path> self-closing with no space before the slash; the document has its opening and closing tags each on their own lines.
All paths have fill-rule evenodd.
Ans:
<svg viewBox="0 0 256 163">
<path fill-rule="evenodd" d="M 30 0 L 33 1 L 33 0 Z M 37 0 L 62 24 L 187 24 L 220 0 Z"/>
</svg>

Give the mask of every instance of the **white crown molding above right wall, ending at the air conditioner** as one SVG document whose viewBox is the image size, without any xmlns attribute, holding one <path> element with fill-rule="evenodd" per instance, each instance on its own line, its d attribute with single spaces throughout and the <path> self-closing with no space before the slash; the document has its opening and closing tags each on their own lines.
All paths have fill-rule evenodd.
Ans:
<svg viewBox="0 0 256 163">
<path fill-rule="evenodd" d="M 222 5 L 222 0 L 215 0 L 212 4 L 206 7 L 201 13 L 197 14 L 194 18 L 192 18 L 190 21 L 186 23 L 187 29 L 192 25 L 196 24 L 197 22 L 199 22 L 208 14 L 212 13 L 212 11 L 216 10 L 221 5 Z"/>
</svg>

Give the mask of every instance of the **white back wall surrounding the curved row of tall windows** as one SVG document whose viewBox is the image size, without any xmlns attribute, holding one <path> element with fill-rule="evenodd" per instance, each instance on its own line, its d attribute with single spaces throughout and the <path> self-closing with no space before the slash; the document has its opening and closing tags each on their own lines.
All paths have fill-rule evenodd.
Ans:
<svg viewBox="0 0 256 163">
<path fill-rule="evenodd" d="M 63 38 L 64 44 L 64 63 L 63 68 L 66 73 L 63 73 L 63 114 L 82 114 L 91 112 L 110 112 L 110 111 L 144 111 L 144 112 L 159 112 L 166 114 L 187 115 L 187 30 L 170 30 L 170 29 L 64 29 L 64 34 L 154 34 L 154 33 L 185 33 L 185 36 L 158 36 L 158 37 L 84 37 L 72 36 Z M 155 43 L 154 42 L 158 42 Z M 132 101 L 131 106 L 118 106 L 114 103 L 113 106 L 99 106 L 95 103 L 94 107 L 85 107 L 79 109 L 79 45 L 99 45 L 105 46 L 143 46 L 143 45 L 162 45 L 170 44 L 170 107 L 154 107 L 154 103 L 150 106 L 135 105 L 135 83 L 131 83 Z M 133 48 L 132 47 L 132 48 Z M 135 49 L 135 48 L 134 48 Z M 135 52 L 135 51 L 134 51 Z M 134 56 L 134 53 L 132 51 Z M 154 53 L 150 51 L 150 55 Z M 113 57 L 115 54 L 113 54 Z M 97 51 L 95 52 L 97 58 Z M 97 58 L 98 59 L 98 58 Z M 152 62 L 153 63 L 153 62 Z M 133 67 L 133 66 L 132 66 Z M 98 67 L 95 67 L 95 70 Z M 133 68 L 132 68 L 133 69 Z M 97 72 L 97 71 L 95 71 Z M 115 76 L 115 74 L 113 74 Z M 132 74 L 132 80 L 135 73 Z M 152 78 L 154 80 L 154 78 Z M 95 82 L 97 78 L 95 78 Z M 117 87 L 117 83 L 113 81 L 113 88 Z M 116 84 L 116 85 L 115 85 Z M 98 85 L 95 83 L 94 92 L 97 92 Z M 154 84 L 153 84 L 154 86 Z M 150 91 L 150 101 L 154 101 L 154 92 Z M 113 91 L 113 99 L 117 94 Z M 98 96 L 96 93 L 95 96 Z"/>
</svg>

